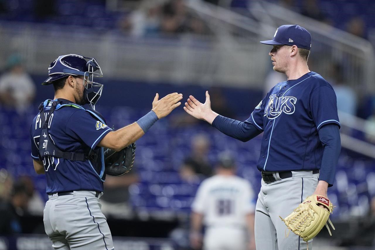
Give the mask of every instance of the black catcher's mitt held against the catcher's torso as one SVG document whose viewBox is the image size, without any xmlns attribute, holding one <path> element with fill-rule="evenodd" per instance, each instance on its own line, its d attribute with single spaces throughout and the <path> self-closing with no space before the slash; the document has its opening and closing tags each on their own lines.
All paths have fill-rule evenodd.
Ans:
<svg viewBox="0 0 375 250">
<path fill-rule="evenodd" d="M 105 174 L 109 176 L 121 176 L 130 171 L 135 158 L 135 143 L 116 152 L 112 149 L 105 149 L 104 164 Z"/>
</svg>

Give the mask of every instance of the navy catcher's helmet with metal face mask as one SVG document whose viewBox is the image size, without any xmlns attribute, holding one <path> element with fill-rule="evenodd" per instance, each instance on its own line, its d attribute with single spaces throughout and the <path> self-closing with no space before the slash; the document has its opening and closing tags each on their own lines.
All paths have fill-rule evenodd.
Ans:
<svg viewBox="0 0 375 250">
<path fill-rule="evenodd" d="M 86 59 L 89 59 L 89 61 L 86 61 Z M 52 84 L 55 80 L 69 75 L 82 75 L 85 86 L 84 98 L 90 107 L 95 110 L 95 104 L 98 102 L 103 90 L 103 84 L 93 81 L 94 77 L 103 76 L 102 70 L 95 58 L 79 54 L 59 56 L 49 65 L 48 75 L 49 77 L 43 81 L 42 85 Z"/>
</svg>

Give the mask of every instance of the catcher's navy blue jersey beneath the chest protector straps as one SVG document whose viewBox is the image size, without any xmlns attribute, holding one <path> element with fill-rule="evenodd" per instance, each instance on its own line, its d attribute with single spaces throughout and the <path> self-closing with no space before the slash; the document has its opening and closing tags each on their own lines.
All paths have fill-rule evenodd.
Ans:
<svg viewBox="0 0 375 250">
<path fill-rule="evenodd" d="M 78 104 L 59 99 L 49 119 L 48 133 L 61 151 L 81 154 L 98 154 L 96 160 L 71 161 L 64 158 L 49 158 L 45 166 L 47 193 L 74 190 L 103 191 L 104 154 L 98 143 L 112 131 L 100 115 L 87 111 Z M 44 102 L 44 112 L 49 113 L 51 100 Z M 42 160 L 39 154 L 39 137 L 42 120 L 38 114 L 31 124 L 31 156 Z"/>
</svg>

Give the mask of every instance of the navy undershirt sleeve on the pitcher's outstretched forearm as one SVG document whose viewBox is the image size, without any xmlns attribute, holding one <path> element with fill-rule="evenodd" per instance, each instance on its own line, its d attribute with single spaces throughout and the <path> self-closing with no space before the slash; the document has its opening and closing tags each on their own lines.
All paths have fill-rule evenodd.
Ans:
<svg viewBox="0 0 375 250">
<path fill-rule="evenodd" d="M 239 120 L 218 115 L 213 120 L 212 127 L 242 142 L 247 142 L 263 132 L 255 128 L 251 117 L 245 120 L 245 122 L 240 122 Z"/>
</svg>

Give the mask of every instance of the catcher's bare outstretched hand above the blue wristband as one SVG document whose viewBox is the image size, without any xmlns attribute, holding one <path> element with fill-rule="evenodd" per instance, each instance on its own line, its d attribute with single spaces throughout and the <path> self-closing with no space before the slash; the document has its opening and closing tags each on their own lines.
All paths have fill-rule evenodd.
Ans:
<svg viewBox="0 0 375 250">
<path fill-rule="evenodd" d="M 159 100 L 159 94 L 156 93 L 154 101 L 152 102 L 152 110 L 156 113 L 157 118 L 161 119 L 180 106 L 181 102 L 179 101 L 181 99 L 182 94 L 171 93 Z"/>
</svg>

